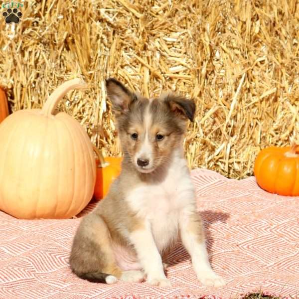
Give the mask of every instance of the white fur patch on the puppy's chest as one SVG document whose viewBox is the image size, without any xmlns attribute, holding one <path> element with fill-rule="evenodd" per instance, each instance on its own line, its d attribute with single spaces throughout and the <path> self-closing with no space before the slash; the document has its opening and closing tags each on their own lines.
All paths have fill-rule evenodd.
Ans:
<svg viewBox="0 0 299 299">
<path fill-rule="evenodd" d="M 156 175 L 157 181 L 139 184 L 127 199 L 137 215 L 149 221 L 156 246 L 162 252 L 176 240 L 179 215 L 194 204 L 194 189 L 183 158 L 174 158 L 166 175 Z"/>
</svg>

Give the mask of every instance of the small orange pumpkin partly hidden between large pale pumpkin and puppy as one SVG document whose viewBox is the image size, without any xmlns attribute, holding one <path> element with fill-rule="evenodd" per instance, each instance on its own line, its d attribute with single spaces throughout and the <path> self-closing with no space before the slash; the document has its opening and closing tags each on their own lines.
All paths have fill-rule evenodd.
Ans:
<svg viewBox="0 0 299 299">
<path fill-rule="evenodd" d="M 94 146 L 97 154 L 97 178 L 94 191 L 94 197 L 100 200 L 106 196 L 111 183 L 119 176 L 122 169 L 122 157 L 106 157 L 104 159 L 102 153 Z"/>
</svg>

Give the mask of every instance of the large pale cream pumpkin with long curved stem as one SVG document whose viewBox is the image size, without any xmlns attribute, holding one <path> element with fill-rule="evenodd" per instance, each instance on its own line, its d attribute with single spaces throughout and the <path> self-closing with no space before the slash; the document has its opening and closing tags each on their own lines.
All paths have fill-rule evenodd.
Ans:
<svg viewBox="0 0 299 299">
<path fill-rule="evenodd" d="M 69 218 L 91 200 L 96 164 L 90 139 L 66 113 L 53 115 L 79 79 L 58 87 L 43 109 L 19 110 L 0 124 L 0 209 L 14 217 Z"/>
</svg>

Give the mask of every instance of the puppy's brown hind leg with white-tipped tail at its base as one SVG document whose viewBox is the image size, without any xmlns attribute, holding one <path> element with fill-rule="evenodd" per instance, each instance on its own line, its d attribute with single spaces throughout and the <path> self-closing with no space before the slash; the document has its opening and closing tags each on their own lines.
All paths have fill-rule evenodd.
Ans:
<svg viewBox="0 0 299 299">
<path fill-rule="evenodd" d="M 121 278 L 109 230 L 99 215 L 91 213 L 81 221 L 73 241 L 70 265 L 77 276 L 90 282 L 113 284 Z"/>
</svg>

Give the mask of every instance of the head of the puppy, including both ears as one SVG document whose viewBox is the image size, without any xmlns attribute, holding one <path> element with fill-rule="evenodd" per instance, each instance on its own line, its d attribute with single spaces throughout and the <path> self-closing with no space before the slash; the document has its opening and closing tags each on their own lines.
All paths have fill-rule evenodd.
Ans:
<svg viewBox="0 0 299 299">
<path fill-rule="evenodd" d="M 194 101 L 173 94 L 149 100 L 115 79 L 106 80 L 106 88 L 124 153 L 137 170 L 149 173 L 169 161 L 182 144 L 188 119 L 193 121 Z"/>
</svg>

